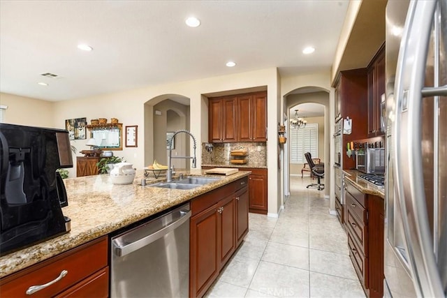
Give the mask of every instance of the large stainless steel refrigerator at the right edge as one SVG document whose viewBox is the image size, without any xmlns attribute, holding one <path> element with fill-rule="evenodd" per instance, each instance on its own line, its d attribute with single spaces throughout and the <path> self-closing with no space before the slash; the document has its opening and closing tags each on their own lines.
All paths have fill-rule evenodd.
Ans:
<svg viewBox="0 0 447 298">
<path fill-rule="evenodd" d="M 386 7 L 384 297 L 446 297 L 447 0 Z"/>
</svg>

